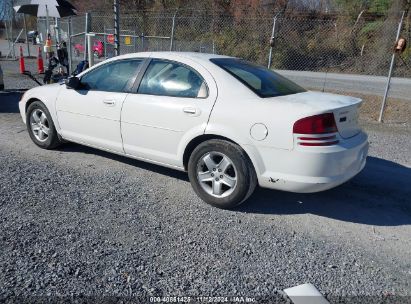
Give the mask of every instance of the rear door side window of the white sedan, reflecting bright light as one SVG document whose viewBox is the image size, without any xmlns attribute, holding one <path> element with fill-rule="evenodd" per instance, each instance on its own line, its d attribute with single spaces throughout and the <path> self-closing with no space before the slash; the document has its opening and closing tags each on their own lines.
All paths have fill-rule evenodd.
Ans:
<svg viewBox="0 0 411 304">
<path fill-rule="evenodd" d="M 153 59 L 141 80 L 138 93 L 207 98 L 208 88 L 195 70 L 174 61 Z"/>
</svg>

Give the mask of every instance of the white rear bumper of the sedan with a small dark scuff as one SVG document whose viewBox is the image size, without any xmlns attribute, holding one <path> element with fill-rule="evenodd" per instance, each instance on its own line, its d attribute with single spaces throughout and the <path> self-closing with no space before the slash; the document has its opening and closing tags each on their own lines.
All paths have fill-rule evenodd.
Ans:
<svg viewBox="0 0 411 304">
<path fill-rule="evenodd" d="M 299 193 L 334 188 L 365 167 L 368 146 L 368 137 L 362 132 L 332 147 L 296 147 L 275 152 L 259 149 L 266 167 L 258 176 L 259 184 Z"/>
</svg>

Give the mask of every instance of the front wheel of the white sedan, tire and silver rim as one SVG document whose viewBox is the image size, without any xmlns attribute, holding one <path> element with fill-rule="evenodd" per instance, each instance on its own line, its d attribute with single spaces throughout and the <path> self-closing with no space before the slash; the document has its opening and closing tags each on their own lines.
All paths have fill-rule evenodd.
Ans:
<svg viewBox="0 0 411 304">
<path fill-rule="evenodd" d="M 26 125 L 31 140 L 40 148 L 54 149 L 62 144 L 50 112 L 41 101 L 29 105 L 26 112 Z"/>
</svg>

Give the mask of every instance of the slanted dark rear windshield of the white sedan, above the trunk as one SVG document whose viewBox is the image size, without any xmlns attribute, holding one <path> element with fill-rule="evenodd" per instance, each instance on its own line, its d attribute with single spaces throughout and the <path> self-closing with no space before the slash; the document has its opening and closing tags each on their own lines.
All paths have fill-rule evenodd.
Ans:
<svg viewBox="0 0 411 304">
<path fill-rule="evenodd" d="M 298 84 L 269 69 L 241 59 L 214 58 L 210 60 L 263 98 L 285 96 L 306 91 Z"/>
</svg>

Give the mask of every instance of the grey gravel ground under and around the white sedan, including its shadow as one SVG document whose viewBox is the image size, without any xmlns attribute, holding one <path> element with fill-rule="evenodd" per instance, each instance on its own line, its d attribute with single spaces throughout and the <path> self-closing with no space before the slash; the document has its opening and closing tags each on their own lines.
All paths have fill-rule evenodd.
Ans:
<svg viewBox="0 0 411 304">
<path fill-rule="evenodd" d="M 224 211 L 184 173 L 37 148 L 18 99 L 0 94 L 0 302 L 288 302 L 283 289 L 312 283 L 332 303 L 411 303 L 409 125 L 364 122 L 368 164 L 336 189 L 258 189 Z"/>
</svg>

